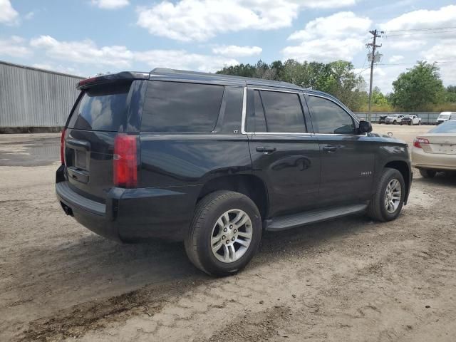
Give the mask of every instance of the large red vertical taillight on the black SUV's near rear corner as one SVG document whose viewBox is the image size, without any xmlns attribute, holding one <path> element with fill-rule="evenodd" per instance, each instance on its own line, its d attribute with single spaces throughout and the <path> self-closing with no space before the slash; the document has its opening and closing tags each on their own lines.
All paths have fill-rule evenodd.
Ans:
<svg viewBox="0 0 456 342">
<path fill-rule="evenodd" d="M 138 158 L 136 136 L 119 134 L 114 140 L 114 185 L 136 187 L 138 185 Z"/>
</svg>

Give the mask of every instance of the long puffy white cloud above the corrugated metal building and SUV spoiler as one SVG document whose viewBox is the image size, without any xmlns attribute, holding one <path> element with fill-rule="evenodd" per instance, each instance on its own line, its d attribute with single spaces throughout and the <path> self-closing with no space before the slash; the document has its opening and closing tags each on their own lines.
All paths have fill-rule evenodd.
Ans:
<svg viewBox="0 0 456 342">
<path fill-rule="evenodd" d="M 100 66 L 128 68 L 133 53 L 125 46 L 103 46 L 98 48 L 93 41 L 57 41 L 51 36 L 40 36 L 31 40 L 33 48 L 43 48 L 46 54 L 62 61 L 90 63 Z"/>
</svg>

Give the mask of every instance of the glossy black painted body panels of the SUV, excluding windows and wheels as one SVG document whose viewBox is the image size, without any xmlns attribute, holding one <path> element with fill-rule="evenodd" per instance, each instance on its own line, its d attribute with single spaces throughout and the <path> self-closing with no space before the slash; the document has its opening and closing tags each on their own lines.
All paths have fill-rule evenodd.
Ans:
<svg viewBox="0 0 456 342">
<path fill-rule="evenodd" d="M 149 80 L 224 86 L 212 133 L 140 132 Z M 98 78 L 97 82 L 103 79 Z M 88 86 L 90 83 L 85 85 Z M 307 132 L 244 132 L 243 116 L 251 105 L 249 96 L 244 98 L 246 87 L 300 93 Z M 113 186 L 113 142 L 118 132 L 67 128 L 66 165 L 61 165 L 56 175 L 58 199 L 67 214 L 73 214 L 93 232 L 123 242 L 150 237 L 182 240 L 199 198 L 214 184 L 222 188 L 223 184 L 232 184 L 227 182 L 230 179 L 235 180 L 233 184 L 247 182 L 246 188 L 263 187 L 264 220 L 318 207 L 366 203 L 375 192 L 383 168 L 388 166 L 403 172 L 407 199 L 412 180 L 407 144 L 375 133 L 316 134 L 311 123 L 314 114 L 306 105 L 309 95 L 330 98 L 353 115 L 331 95 L 289 83 L 158 69 L 147 79 L 140 74 L 132 81 L 128 114 L 119 130 L 137 138 L 138 187 Z M 353 120 L 359 122 L 355 115 Z M 71 145 L 74 141 L 89 144 L 87 182 L 73 178 L 77 153 L 77 147 Z M 263 146 L 275 150 L 258 152 L 257 147 Z M 326 146 L 337 148 L 328 152 L 323 148 Z M 84 198 L 103 204 L 105 212 L 93 212 Z"/>
</svg>

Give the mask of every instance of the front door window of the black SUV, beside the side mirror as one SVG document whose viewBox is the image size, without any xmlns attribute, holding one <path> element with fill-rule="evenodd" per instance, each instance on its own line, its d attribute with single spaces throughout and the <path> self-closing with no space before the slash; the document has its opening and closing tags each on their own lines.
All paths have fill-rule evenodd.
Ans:
<svg viewBox="0 0 456 342">
<path fill-rule="evenodd" d="M 309 95 L 309 107 L 315 133 L 354 134 L 353 118 L 339 105 L 326 98 Z"/>
</svg>

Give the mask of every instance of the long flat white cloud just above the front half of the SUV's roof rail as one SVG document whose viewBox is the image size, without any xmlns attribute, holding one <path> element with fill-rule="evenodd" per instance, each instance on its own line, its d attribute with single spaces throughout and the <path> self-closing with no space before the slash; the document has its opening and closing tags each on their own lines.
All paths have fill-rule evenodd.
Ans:
<svg viewBox="0 0 456 342">
<path fill-rule="evenodd" d="M 214 72 L 224 66 L 239 64 L 233 58 L 187 53 L 185 50 L 150 50 L 135 53 L 135 59 L 150 68 L 166 67 Z"/>
</svg>

